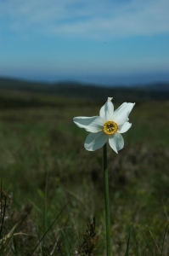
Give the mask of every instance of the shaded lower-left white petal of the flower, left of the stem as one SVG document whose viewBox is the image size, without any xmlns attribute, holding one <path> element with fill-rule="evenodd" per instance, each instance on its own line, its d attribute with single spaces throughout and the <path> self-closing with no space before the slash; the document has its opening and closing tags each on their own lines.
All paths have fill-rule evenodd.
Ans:
<svg viewBox="0 0 169 256">
<path fill-rule="evenodd" d="M 88 151 L 94 151 L 96 149 L 102 148 L 107 142 L 108 136 L 104 134 L 103 131 L 97 133 L 89 133 L 84 143 L 84 147 Z"/>
</svg>

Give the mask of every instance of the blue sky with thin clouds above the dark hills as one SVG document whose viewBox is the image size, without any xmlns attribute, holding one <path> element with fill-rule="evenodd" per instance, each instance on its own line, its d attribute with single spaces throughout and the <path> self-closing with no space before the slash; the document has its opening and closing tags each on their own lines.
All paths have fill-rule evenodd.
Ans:
<svg viewBox="0 0 169 256">
<path fill-rule="evenodd" d="M 0 76 L 169 81 L 168 0 L 0 0 Z"/>
</svg>

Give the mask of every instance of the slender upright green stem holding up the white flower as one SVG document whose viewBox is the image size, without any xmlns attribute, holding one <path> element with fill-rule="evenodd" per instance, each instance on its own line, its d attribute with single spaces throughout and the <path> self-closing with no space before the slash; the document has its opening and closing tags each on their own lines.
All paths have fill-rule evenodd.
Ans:
<svg viewBox="0 0 169 256">
<path fill-rule="evenodd" d="M 110 245 L 110 201 L 109 201 L 109 179 L 107 168 L 107 145 L 104 144 L 104 201 L 105 201 L 105 223 L 106 223 L 106 243 L 107 256 L 111 255 Z"/>
</svg>

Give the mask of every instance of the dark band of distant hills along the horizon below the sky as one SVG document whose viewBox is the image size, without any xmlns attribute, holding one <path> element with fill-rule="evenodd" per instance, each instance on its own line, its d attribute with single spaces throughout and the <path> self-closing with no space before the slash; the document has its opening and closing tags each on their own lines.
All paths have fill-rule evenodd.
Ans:
<svg viewBox="0 0 169 256">
<path fill-rule="evenodd" d="M 31 94 L 65 96 L 79 99 L 104 100 L 113 96 L 118 102 L 168 101 L 169 84 L 147 84 L 144 86 L 97 86 L 74 82 L 55 84 L 29 82 L 19 79 L 0 78 L 1 91 L 21 91 Z"/>
</svg>

